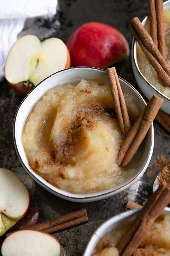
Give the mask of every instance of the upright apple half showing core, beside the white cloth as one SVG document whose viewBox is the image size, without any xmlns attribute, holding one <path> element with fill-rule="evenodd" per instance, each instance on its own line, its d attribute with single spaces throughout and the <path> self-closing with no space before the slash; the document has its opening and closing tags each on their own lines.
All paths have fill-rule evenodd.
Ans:
<svg viewBox="0 0 170 256">
<path fill-rule="evenodd" d="M 22 95 L 51 74 L 70 67 L 70 53 L 59 38 L 41 42 L 38 37 L 25 35 L 11 47 L 6 63 L 5 78 Z"/>
</svg>

